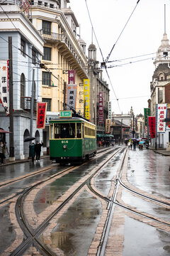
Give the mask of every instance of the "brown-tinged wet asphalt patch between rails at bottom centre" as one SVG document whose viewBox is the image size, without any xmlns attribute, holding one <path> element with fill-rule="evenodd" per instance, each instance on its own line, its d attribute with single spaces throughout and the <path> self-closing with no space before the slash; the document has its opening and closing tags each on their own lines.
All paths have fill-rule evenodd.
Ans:
<svg viewBox="0 0 170 256">
<path fill-rule="evenodd" d="M 64 255 L 86 256 L 101 213 L 101 201 L 83 191 L 57 221 L 51 233 L 51 247 L 59 248 Z"/>
</svg>

